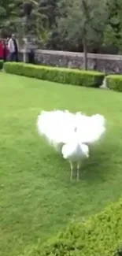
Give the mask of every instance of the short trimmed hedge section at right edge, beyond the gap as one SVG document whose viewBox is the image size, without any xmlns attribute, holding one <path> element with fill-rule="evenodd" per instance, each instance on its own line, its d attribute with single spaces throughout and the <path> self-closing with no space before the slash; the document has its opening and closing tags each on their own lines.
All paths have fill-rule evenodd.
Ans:
<svg viewBox="0 0 122 256">
<path fill-rule="evenodd" d="M 106 85 L 109 89 L 113 89 L 114 91 L 122 91 L 122 76 L 121 75 L 106 76 Z"/>
</svg>

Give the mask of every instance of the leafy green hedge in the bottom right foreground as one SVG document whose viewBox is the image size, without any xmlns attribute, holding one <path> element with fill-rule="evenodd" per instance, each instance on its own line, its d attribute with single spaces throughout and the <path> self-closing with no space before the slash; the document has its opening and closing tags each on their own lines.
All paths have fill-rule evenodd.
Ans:
<svg viewBox="0 0 122 256">
<path fill-rule="evenodd" d="M 122 255 L 122 200 L 87 221 L 72 223 L 41 246 L 23 256 L 120 256 Z"/>
</svg>

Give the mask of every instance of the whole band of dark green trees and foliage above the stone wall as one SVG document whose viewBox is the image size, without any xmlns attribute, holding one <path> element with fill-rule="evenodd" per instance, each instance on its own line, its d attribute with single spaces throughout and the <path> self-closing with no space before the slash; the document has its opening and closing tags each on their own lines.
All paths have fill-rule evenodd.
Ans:
<svg viewBox="0 0 122 256">
<path fill-rule="evenodd" d="M 0 32 L 44 49 L 121 53 L 121 0 L 0 0 Z"/>
</svg>

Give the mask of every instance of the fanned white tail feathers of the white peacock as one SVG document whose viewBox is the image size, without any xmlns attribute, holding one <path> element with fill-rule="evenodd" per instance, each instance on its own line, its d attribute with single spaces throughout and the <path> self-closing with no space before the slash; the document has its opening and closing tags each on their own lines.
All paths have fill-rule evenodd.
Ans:
<svg viewBox="0 0 122 256">
<path fill-rule="evenodd" d="M 39 135 L 61 151 L 65 143 L 76 137 L 79 143 L 98 141 L 105 132 L 105 117 L 100 114 L 88 117 L 82 113 L 69 113 L 68 110 L 42 111 L 38 116 L 37 128 Z M 77 136 L 74 137 L 74 134 Z"/>
</svg>

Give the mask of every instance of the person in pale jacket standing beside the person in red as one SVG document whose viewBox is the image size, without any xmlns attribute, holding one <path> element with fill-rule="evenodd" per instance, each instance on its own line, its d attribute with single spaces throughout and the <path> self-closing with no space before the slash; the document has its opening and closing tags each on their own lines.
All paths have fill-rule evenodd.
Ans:
<svg viewBox="0 0 122 256">
<path fill-rule="evenodd" d="M 18 46 L 15 35 L 13 34 L 8 42 L 9 61 L 18 61 Z"/>
</svg>

